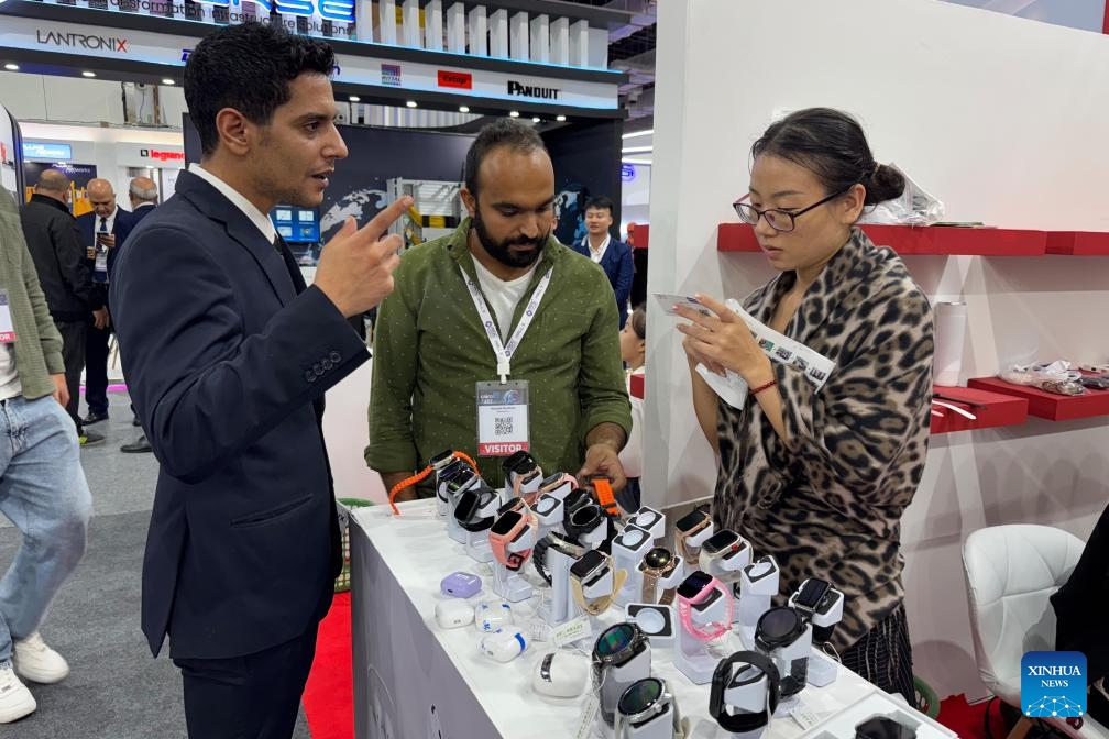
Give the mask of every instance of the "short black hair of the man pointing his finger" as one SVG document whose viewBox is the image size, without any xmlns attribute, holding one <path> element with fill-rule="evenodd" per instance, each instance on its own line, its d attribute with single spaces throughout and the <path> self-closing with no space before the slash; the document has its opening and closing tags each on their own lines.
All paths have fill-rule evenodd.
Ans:
<svg viewBox="0 0 1109 739">
<path fill-rule="evenodd" d="M 204 155 L 215 152 L 215 116 L 233 107 L 265 125 L 289 100 L 288 83 L 305 73 L 330 76 L 335 52 L 324 41 L 268 23 L 225 25 L 206 35 L 185 62 L 185 102 Z"/>
</svg>

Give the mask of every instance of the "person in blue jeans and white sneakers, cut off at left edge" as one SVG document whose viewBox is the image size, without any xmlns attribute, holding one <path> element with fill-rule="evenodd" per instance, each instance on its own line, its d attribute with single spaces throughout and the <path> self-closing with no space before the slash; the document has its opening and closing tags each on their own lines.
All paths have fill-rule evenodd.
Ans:
<svg viewBox="0 0 1109 739">
<path fill-rule="evenodd" d="M 63 179 L 48 178 L 48 184 Z M 92 496 L 63 410 L 69 387 L 62 337 L 16 226 L 16 202 L 3 187 L 0 252 L 0 290 L 8 309 L 0 317 L 0 513 L 23 538 L 0 579 L 0 723 L 10 723 L 38 707 L 20 678 L 50 684 L 69 675 L 64 657 L 47 646 L 39 625 L 84 555 Z"/>
</svg>

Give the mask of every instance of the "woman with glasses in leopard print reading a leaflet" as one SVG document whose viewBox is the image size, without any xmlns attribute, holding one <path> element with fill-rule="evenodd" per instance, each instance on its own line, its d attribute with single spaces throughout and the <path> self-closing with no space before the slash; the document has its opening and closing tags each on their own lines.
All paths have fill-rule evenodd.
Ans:
<svg viewBox="0 0 1109 739">
<path fill-rule="evenodd" d="M 718 452 L 718 526 L 773 554 L 782 593 L 807 577 L 846 595 L 832 644 L 846 667 L 914 695 L 899 552 L 901 516 L 920 481 L 932 393 L 932 310 L 901 258 L 854 224 L 897 197 L 904 178 L 877 163 L 858 123 L 828 109 L 773 123 L 751 148 L 750 193 L 735 203 L 780 274 L 743 301 L 760 322 L 826 357 L 772 361 L 722 302 L 681 308 L 698 421 Z M 721 402 L 696 365 L 747 383 Z"/>
</svg>

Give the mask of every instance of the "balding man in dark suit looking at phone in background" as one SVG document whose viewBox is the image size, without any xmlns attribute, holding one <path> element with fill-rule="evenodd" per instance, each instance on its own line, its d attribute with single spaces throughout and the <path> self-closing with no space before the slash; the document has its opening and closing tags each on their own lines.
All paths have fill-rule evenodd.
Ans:
<svg viewBox="0 0 1109 739">
<path fill-rule="evenodd" d="M 85 187 L 92 211 L 78 216 L 77 225 L 81 229 L 81 244 L 85 247 L 92 280 L 103 292 L 109 308 L 106 326 L 101 328 L 90 320 L 84 345 L 84 402 L 89 406 L 89 414 L 81 421 L 90 425 L 108 420 L 108 346 L 112 337 L 108 280 L 118 249 L 131 233 L 131 212 L 115 204 L 115 189 L 106 179 L 90 179 Z"/>
</svg>

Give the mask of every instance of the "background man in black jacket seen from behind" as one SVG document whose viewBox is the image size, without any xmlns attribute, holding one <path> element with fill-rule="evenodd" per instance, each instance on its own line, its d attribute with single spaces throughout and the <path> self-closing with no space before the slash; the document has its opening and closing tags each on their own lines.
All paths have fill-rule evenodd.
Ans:
<svg viewBox="0 0 1109 739">
<path fill-rule="evenodd" d="M 39 283 L 47 296 L 50 316 L 62 336 L 62 359 L 69 391 L 65 410 L 77 427 L 78 440 L 87 447 L 104 440 L 101 434 L 82 428 L 78 412 L 89 316 L 92 316 L 94 327 L 105 328 L 108 309 L 103 291 L 92 281 L 92 271 L 85 263 L 85 247 L 81 243 L 77 220 L 69 211 L 70 197 L 69 177 L 57 170 L 45 170 L 39 176 L 31 202 L 20 211 L 20 222 Z"/>
</svg>

